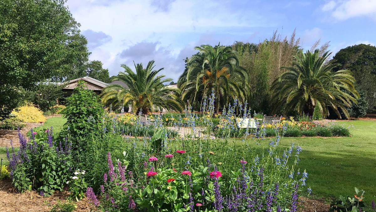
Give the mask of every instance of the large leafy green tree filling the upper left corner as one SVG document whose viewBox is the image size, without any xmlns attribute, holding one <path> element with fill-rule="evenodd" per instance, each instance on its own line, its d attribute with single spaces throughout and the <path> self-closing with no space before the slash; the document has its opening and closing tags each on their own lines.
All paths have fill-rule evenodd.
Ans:
<svg viewBox="0 0 376 212">
<path fill-rule="evenodd" d="M 17 107 L 9 104 L 7 99 L 13 94 L 6 91 L 30 89 L 38 81 L 62 76 L 72 70 L 76 55 L 89 54 L 86 44 L 82 51 L 76 48 L 81 45 L 74 38 L 80 35 L 78 23 L 64 3 L 0 1 L 0 84 L 5 91 L 0 92 L 0 117 Z"/>
</svg>

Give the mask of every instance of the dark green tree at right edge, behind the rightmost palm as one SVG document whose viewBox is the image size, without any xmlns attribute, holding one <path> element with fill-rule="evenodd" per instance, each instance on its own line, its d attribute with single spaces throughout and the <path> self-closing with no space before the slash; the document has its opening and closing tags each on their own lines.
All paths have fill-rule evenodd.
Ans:
<svg viewBox="0 0 376 212">
<path fill-rule="evenodd" d="M 333 60 L 341 65 L 334 70 L 352 71 L 356 84 L 364 92 L 368 112 L 376 109 L 376 47 L 359 44 L 348 46 L 335 54 Z"/>
</svg>

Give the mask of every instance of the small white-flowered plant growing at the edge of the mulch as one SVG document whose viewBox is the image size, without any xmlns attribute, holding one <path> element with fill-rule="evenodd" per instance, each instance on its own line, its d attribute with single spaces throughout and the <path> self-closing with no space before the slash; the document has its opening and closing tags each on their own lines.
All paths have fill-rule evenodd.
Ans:
<svg viewBox="0 0 376 212">
<path fill-rule="evenodd" d="M 74 172 L 74 176 L 71 177 L 71 180 L 67 181 L 70 192 L 69 198 L 71 200 L 79 201 L 84 197 L 86 188 L 88 187 L 84 175 L 84 170 L 81 171 L 80 169 L 77 169 L 77 171 Z"/>
</svg>

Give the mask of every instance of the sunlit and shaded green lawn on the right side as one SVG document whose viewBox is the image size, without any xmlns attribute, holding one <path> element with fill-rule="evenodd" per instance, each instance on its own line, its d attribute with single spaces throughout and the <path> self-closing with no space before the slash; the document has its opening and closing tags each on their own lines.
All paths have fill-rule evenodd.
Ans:
<svg viewBox="0 0 376 212">
<path fill-rule="evenodd" d="M 318 198 L 354 195 L 354 187 L 365 190 L 365 201 L 376 200 L 376 121 L 343 121 L 352 137 L 282 138 L 302 147 L 300 169 L 308 172 L 307 185 Z"/>
</svg>

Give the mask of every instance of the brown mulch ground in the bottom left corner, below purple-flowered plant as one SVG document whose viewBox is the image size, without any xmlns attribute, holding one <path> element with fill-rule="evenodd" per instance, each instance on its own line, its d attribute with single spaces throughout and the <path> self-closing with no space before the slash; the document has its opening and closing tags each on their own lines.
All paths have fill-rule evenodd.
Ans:
<svg viewBox="0 0 376 212">
<path fill-rule="evenodd" d="M 14 191 L 11 180 L 0 180 L 0 211 L 2 212 L 48 212 L 57 200 L 66 201 L 68 192 L 55 192 L 50 197 L 42 197 L 35 191 L 27 191 L 23 194 Z M 90 211 L 86 199 L 75 202 L 77 212 Z M 49 206 L 50 205 L 50 206 Z"/>
</svg>

